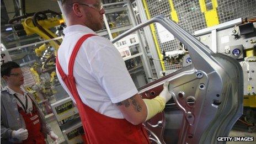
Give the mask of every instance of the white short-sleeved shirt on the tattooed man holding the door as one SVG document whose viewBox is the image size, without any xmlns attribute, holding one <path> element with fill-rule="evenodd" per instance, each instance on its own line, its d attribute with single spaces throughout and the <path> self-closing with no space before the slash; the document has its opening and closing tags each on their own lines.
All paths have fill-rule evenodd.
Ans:
<svg viewBox="0 0 256 144">
<path fill-rule="evenodd" d="M 82 25 L 68 26 L 63 33 L 65 38 L 58 49 L 58 60 L 68 74 L 68 62 L 78 39 L 96 33 Z M 92 36 L 83 42 L 74 61 L 73 75 L 82 102 L 111 118 L 123 119 L 115 103 L 138 93 L 119 51 L 102 36 Z M 75 102 L 58 71 L 57 77 Z"/>
</svg>

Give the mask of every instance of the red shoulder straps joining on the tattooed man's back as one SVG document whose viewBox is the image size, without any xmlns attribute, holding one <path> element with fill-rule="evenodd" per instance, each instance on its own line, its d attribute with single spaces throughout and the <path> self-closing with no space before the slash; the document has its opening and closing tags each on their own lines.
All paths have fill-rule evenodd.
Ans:
<svg viewBox="0 0 256 144">
<path fill-rule="evenodd" d="M 76 59 L 77 52 L 79 51 L 83 42 L 88 39 L 90 36 L 94 36 L 94 34 L 86 34 L 83 35 L 78 41 L 77 44 L 74 46 L 72 54 L 70 56 L 70 61 L 68 62 L 68 75 L 62 70 L 60 63 L 58 62 L 58 56 L 56 57 L 56 67 L 58 72 L 60 73 L 63 82 L 66 84 L 68 90 L 72 93 L 73 97 L 79 99 L 79 95 L 76 88 L 76 82 L 74 81 L 73 77 L 73 68 L 74 68 L 74 60 Z M 76 99 L 75 98 L 75 99 Z"/>
</svg>

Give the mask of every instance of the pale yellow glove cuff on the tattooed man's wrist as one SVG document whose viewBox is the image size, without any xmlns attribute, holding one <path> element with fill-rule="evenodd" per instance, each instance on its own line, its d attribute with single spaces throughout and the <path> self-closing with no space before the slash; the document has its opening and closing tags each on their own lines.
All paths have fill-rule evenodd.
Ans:
<svg viewBox="0 0 256 144">
<path fill-rule="evenodd" d="M 161 113 L 166 106 L 164 98 L 157 96 L 153 99 L 143 99 L 147 106 L 147 118 L 146 121 L 151 119 L 154 115 Z"/>
</svg>

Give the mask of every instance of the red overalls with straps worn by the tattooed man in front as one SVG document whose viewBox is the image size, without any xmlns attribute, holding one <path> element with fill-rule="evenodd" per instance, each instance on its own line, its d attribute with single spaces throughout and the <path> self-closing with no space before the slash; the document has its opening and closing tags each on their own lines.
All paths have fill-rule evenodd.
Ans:
<svg viewBox="0 0 256 144">
<path fill-rule="evenodd" d="M 70 61 L 68 63 L 67 75 L 63 72 L 60 63 L 58 62 L 58 57 L 56 57 L 57 70 L 68 90 L 70 90 L 74 99 L 76 100 L 87 143 L 150 143 L 147 132 L 142 124 L 132 125 L 125 119 L 115 119 L 100 114 L 94 109 L 85 105 L 79 97 L 76 82 L 73 77 L 74 60 L 79 48 L 90 36 L 94 35 L 87 34 L 82 36 L 82 38 L 78 40 L 76 46 L 74 46 L 74 50 L 72 51 Z"/>
</svg>

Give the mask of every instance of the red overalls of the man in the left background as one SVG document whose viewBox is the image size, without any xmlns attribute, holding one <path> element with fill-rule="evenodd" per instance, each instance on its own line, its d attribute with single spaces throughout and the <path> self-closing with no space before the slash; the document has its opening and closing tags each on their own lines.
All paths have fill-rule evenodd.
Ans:
<svg viewBox="0 0 256 144">
<path fill-rule="evenodd" d="M 26 114 L 25 111 L 18 106 L 19 113 L 22 115 L 25 124 L 26 129 L 28 130 L 28 138 L 23 141 L 24 144 L 44 144 L 45 143 L 45 137 L 44 134 L 41 132 L 41 122 L 39 119 L 39 111 L 36 108 L 34 102 L 33 103 L 33 111 L 31 111 L 31 114 Z"/>
</svg>

